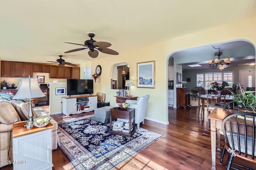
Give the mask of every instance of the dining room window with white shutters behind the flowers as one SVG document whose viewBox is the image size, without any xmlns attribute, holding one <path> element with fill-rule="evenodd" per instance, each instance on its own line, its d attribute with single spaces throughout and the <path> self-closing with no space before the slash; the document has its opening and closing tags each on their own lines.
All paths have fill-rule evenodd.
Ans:
<svg viewBox="0 0 256 170">
<path fill-rule="evenodd" d="M 211 82 L 225 81 L 230 86 L 233 84 L 233 72 L 210 72 L 210 73 L 198 73 L 196 74 L 196 86 L 203 87 L 208 90 L 211 89 Z"/>
</svg>

